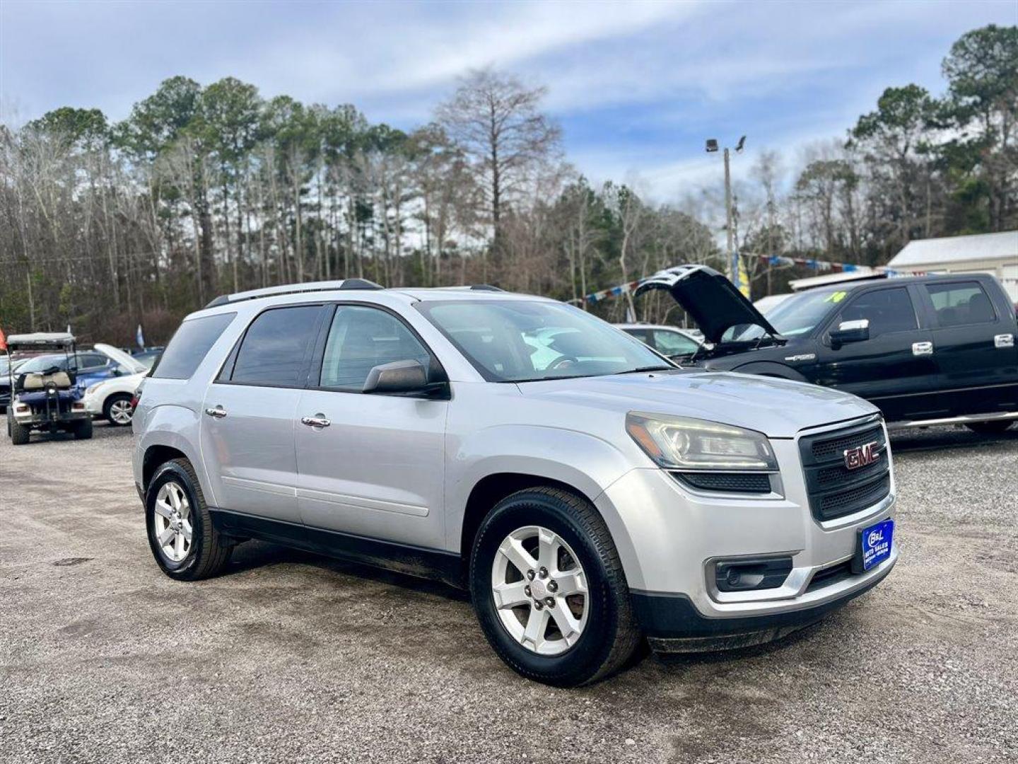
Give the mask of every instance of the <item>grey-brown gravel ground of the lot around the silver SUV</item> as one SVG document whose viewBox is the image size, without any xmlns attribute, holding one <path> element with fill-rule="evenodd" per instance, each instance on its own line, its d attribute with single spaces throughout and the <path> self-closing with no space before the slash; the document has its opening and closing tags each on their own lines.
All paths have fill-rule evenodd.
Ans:
<svg viewBox="0 0 1018 764">
<path fill-rule="evenodd" d="M 896 438 L 901 560 L 821 624 L 579 691 L 442 586 L 260 543 L 174 583 L 130 433 L 36 437 L 0 438 L 3 762 L 1018 760 L 1018 431 Z"/>
</svg>

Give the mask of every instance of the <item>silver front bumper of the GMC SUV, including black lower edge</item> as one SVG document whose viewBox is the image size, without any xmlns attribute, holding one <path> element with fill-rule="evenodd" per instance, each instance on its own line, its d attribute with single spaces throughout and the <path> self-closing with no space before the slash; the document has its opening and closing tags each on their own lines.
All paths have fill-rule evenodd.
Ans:
<svg viewBox="0 0 1018 764">
<path fill-rule="evenodd" d="M 859 529 L 893 515 L 893 465 L 886 498 L 821 522 L 810 511 L 798 439 L 772 439 L 772 446 L 781 485 L 770 495 L 706 495 L 661 470 L 635 469 L 596 500 L 618 547 L 636 615 L 656 648 L 716 649 L 781 637 L 875 586 L 897 561 L 895 544 L 890 558 L 870 570 L 845 569 L 856 554 Z M 791 559 L 781 586 L 719 591 L 717 561 L 769 557 Z"/>
</svg>

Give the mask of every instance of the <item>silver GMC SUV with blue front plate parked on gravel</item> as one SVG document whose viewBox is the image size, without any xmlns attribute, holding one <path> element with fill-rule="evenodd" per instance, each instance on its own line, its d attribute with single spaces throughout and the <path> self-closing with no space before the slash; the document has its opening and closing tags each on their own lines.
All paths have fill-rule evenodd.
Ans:
<svg viewBox="0 0 1018 764">
<path fill-rule="evenodd" d="M 898 556 L 874 406 L 683 370 L 552 299 L 233 294 L 183 321 L 139 394 L 134 477 L 168 576 L 213 576 L 259 538 L 437 577 L 553 685 L 608 675 L 642 638 L 774 639 Z"/>
</svg>

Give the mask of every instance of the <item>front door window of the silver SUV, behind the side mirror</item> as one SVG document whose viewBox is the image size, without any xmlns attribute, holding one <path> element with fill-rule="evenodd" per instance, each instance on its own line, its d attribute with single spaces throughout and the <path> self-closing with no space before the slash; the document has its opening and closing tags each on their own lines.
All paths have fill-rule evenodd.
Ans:
<svg viewBox="0 0 1018 764">
<path fill-rule="evenodd" d="M 431 353 L 402 321 L 377 308 L 341 305 L 329 328 L 320 386 L 360 392 L 372 369 L 396 361 L 419 361 L 431 370 Z"/>
</svg>

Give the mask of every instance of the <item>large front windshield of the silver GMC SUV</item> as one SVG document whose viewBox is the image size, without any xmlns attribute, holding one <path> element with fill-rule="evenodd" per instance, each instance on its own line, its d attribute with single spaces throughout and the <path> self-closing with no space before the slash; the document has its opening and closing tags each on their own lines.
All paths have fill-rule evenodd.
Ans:
<svg viewBox="0 0 1018 764">
<path fill-rule="evenodd" d="M 450 301 L 415 307 L 489 382 L 674 368 L 639 340 L 562 303 Z"/>
</svg>

